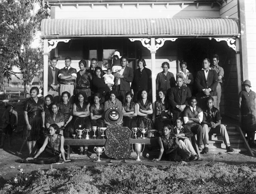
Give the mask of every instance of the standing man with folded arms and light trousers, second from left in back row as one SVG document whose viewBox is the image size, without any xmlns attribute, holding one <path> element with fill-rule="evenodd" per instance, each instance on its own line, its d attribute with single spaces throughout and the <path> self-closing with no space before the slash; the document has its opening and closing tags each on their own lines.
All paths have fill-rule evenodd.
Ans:
<svg viewBox="0 0 256 194">
<path fill-rule="evenodd" d="M 71 57 L 65 58 L 66 67 L 59 70 L 58 77 L 60 79 L 60 88 L 59 88 L 59 99 L 61 99 L 62 92 L 69 92 L 71 98 L 74 94 L 74 81 L 76 80 L 76 69 L 72 68 Z M 71 100 L 72 102 L 72 100 Z"/>
</svg>

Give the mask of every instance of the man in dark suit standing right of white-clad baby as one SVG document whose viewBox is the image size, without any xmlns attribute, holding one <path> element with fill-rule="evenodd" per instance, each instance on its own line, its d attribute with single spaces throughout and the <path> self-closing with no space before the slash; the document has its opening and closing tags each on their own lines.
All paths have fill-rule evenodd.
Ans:
<svg viewBox="0 0 256 194">
<path fill-rule="evenodd" d="M 125 103 L 125 94 L 130 92 L 130 82 L 133 81 L 133 70 L 130 67 L 127 67 L 128 58 L 121 57 L 121 66 L 122 69 L 120 72 L 115 73 L 115 85 L 114 90 L 118 92 L 118 99 Z"/>
</svg>

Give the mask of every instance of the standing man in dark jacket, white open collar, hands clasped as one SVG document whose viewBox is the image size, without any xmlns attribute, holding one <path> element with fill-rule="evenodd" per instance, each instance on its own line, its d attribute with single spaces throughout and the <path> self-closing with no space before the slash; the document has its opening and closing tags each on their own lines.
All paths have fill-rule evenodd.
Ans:
<svg viewBox="0 0 256 194">
<path fill-rule="evenodd" d="M 195 78 L 195 87 L 197 89 L 197 101 L 202 109 L 206 109 L 206 99 L 211 96 L 214 99 L 214 107 L 217 106 L 218 75 L 215 70 L 210 68 L 210 59 L 206 58 L 203 62 L 203 68 L 197 72 Z"/>
</svg>

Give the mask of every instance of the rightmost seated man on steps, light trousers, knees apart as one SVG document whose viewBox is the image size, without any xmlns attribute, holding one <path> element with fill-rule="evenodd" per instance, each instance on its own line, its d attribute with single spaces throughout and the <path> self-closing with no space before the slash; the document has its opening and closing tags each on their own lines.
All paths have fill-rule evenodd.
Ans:
<svg viewBox="0 0 256 194">
<path fill-rule="evenodd" d="M 206 102 L 207 109 L 204 110 L 204 119 L 202 121 L 204 149 L 201 154 L 207 154 L 209 152 L 209 133 L 221 134 L 226 145 L 227 152 L 234 152 L 230 146 L 226 126 L 221 124 L 221 114 L 219 110 L 213 106 L 214 99 L 209 97 Z"/>
</svg>

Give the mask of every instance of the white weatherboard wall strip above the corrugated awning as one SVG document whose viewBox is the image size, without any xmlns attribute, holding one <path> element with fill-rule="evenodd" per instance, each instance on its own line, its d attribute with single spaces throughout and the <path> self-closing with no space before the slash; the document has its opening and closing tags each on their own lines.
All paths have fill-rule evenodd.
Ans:
<svg viewBox="0 0 256 194">
<path fill-rule="evenodd" d="M 87 19 L 115 19 L 115 18 L 188 18 L 204 17 L 219 18 L 219 6 L 215 5 L 79 5 L 76 6 L 52 6 L 51 18 L 87 18 Z"/>
</svg>

